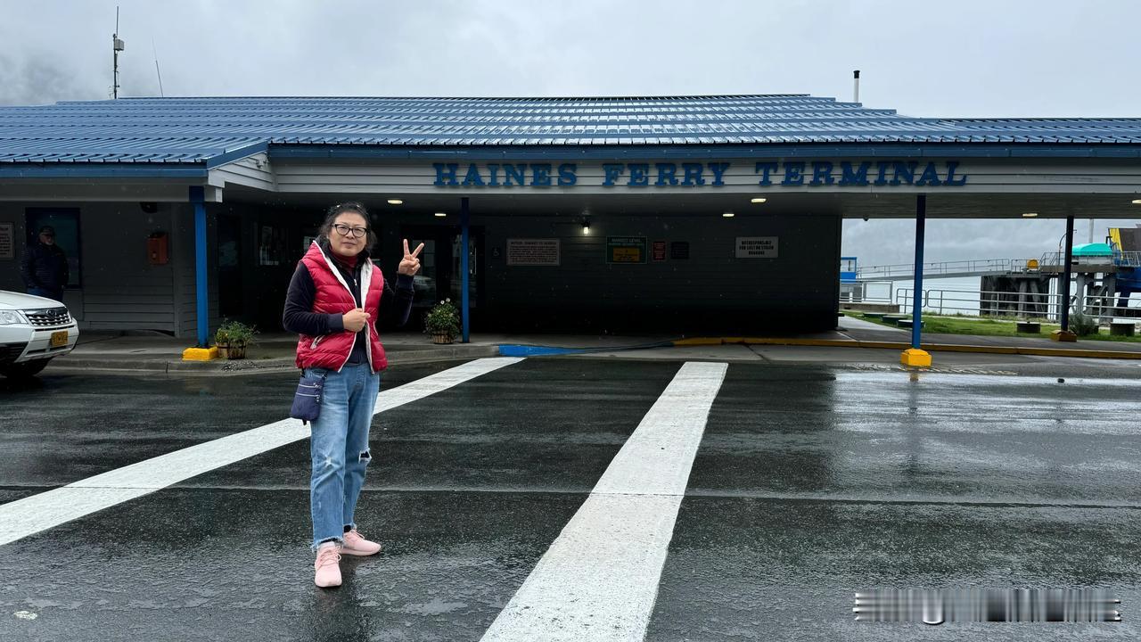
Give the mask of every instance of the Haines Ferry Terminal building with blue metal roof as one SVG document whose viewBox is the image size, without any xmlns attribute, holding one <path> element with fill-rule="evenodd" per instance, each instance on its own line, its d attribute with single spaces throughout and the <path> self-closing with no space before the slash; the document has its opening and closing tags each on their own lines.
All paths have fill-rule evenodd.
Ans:
<svg viewBox="0 0 1141 642">
<path fill-rule="evenodd" d="M 416 305 L 467 298 L 474 331 L 825 330 L 842 219 L 1136 218 L 1141 119 L 807 95 L 0 107 L 0 289 L 23 290 L 21 255 L 54 225 L 81 328 L 280 329 L 346 200 L 370 209 L 386 275 L 402 239 L 426 243 Z"/>
</svg>

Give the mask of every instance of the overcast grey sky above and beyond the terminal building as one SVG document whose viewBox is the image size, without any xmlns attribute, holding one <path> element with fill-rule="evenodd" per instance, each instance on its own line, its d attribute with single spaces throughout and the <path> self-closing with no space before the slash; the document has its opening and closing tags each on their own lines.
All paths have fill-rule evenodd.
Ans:
<svg viewBox="0 0 1141 642">
<path fill-rule="evenodd" d="M 0 105 L 110 96 L 812 94 L 915 117 L 1141 117 L 1134 0 L 37 0 L 0 18 Z M 1141 220 L 1115 222 L 1133 225 Z M 1109 222 L 1097 223 L 1097 236 Z M 1037 256 L 1057 220 L 932 220 L 930 260 Z M 907 220 L 844 224 L 864 264 Z M 1079 240 L 1089 236 L 1079 223 Z M 981 256 L 986 255 L 986 256 Z"/>
</svg>

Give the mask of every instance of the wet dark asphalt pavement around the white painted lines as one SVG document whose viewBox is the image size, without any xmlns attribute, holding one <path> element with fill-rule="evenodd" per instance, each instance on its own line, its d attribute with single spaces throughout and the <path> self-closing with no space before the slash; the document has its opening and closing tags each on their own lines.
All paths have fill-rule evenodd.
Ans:
<svg viewBox="0 0 1141 642">
<path fill-rule="evenodd" d="M 0 546 L 0 640 L 479 640 L 679 367 L 528 359 L 377 416 L 357 521 L 386 551 L 335 591 L 311 584 L 307 440 Z M 294 380 L 2 382 L 0 501 L 281 419 Z M 646 639 L 1141 639 L 1138 390 L 730 364 Z M 851 613 L 974 586 L 1104 587 L 1124 621 Z"/>
</svg>

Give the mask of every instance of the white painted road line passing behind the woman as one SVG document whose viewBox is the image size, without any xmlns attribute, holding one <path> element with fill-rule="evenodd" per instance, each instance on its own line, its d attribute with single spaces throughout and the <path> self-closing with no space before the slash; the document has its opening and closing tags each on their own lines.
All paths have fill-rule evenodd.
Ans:
<svg viewBox="0 0 1141 642">
<path fill-rule="evenodd" d="M 423 399 L 458 384 L 523 361 L 520 358 L 477 359 L 416 379 L 377 398 L 374 412 Z M 123 466 L 31 497 L 0 505 L 0 546 L 64 522 L 141 497 L 309 436 L 309 426 L 282 419 L 175 452 Z"/>
</svg>

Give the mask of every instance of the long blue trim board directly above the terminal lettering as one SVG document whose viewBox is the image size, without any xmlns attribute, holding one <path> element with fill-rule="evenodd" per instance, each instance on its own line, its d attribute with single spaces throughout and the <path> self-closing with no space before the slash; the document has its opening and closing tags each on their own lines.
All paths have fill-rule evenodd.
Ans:
<svg viewBox="0 0 1141 642">
<path fill-rule="evenodd" d="M 270 159 L 341 160 L 657 160 L 738 158 L 1141 158 L 1141 145 L 930 144 L 850 145 L 482 145 L 467 147 L 407 145 L 270 144 Z"/>
</svg>

